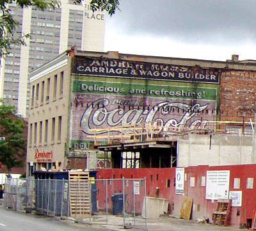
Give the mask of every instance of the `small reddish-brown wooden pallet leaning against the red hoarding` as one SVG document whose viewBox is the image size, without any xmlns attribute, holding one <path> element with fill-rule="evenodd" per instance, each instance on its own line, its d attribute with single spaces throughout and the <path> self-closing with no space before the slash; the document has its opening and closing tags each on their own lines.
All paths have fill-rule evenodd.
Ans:
<svg viewBox="0 0 256 231">
<path fill-rule="evenodd" d="M 213 225 L 228 225 L 228 217 L 230 213 L 230 200 L 219 199 L 217 202 L 216 211 L 213 213 Z"/>
</svg>

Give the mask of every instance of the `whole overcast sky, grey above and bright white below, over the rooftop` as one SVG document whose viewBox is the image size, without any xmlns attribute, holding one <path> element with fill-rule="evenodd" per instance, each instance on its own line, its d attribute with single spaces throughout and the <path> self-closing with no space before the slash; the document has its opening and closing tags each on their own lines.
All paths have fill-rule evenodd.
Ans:
<svg viewBox="0 0 256 231">
<path fill-rule="evenodd" d="M 256 0 L 120 0 L 106 16 L 105 51 L 256 60 Z"/>
</svg>

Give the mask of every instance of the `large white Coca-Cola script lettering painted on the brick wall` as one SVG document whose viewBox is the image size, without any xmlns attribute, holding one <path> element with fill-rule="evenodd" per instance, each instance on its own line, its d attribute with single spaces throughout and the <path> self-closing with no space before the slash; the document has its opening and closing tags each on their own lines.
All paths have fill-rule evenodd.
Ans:
<svg viewBox="0 0 256 231">
<path fill-rule="evenodd" d="M 102 134 L 108 132 L 107 129 L 104 130 L 107 127 L 157 122 L 163 131 L 172 128 L 182 129 L 185 125 L 193 129 L 198 124 L 200 127 L 205 127 L 207 120 L 191 120 L 191 118 L 207 107 L 208 104 L 201 106 L 196 103 L 191 106 L 182 102 L 166 101 L 152 106 L 151 109 L 132 108 L 124 110 L 124 108 L 111 108 L 109 99 L 99 99 L 92 102 L 84 111 L 81 118 L 81 128 L 85 134 Z M 179 114 L 179 118 L 172 115 L 173 108 L 179 108 L 180 111 L 183 111 L 183 115 Z M 97 132 L 91 130 L 96 127 L 100 127 L 102 130 Z M 117 129 L 116 132 L 120 131 Z"/>
</svg>

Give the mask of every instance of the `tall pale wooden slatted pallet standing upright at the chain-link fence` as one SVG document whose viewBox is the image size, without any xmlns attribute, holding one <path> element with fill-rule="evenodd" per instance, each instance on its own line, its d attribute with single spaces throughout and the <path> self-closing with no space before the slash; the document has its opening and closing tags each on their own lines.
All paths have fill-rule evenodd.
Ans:
<svg viewBox="0 0 256 231">
<path fill-rule="evenodd" d="M 79 218 L 90 216 L 89 171 L 70 171 L 68 179 L 70 216 Z"/>
</svg>

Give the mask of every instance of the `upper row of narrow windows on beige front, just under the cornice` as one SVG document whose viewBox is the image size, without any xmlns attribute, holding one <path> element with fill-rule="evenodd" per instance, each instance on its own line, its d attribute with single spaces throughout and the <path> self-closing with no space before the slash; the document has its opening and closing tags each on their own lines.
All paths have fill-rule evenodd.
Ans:
<svg viewBox="0 0 256 231">
<path fill-rule="evenodd" d="M 57 97 L 63 96 L 64 72 L 47 78 L 41 83 L 36 83 L 31 86 L 31 108 L 44 103 L 49 103 L 49 100 L 56 100 Z"/>
</svg>

